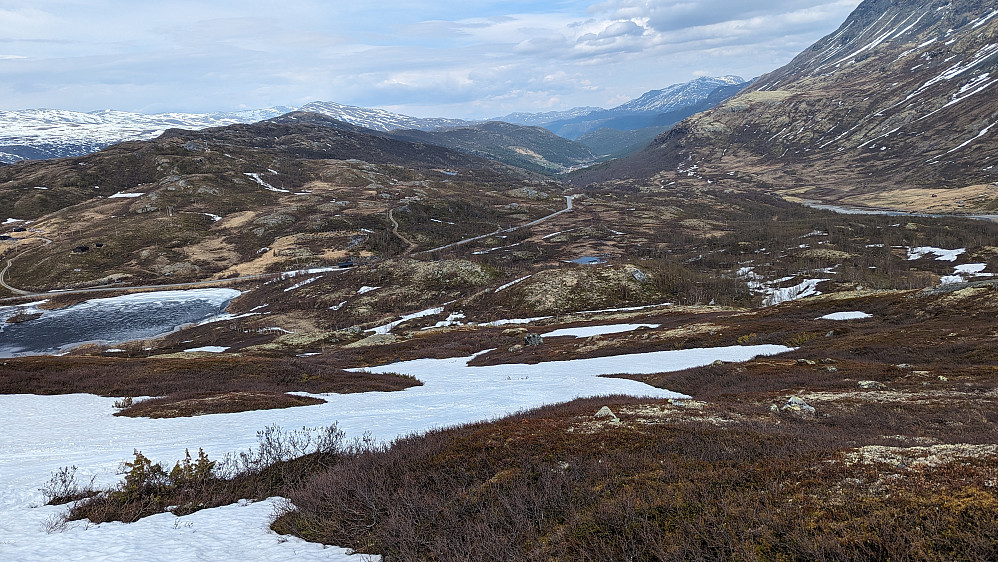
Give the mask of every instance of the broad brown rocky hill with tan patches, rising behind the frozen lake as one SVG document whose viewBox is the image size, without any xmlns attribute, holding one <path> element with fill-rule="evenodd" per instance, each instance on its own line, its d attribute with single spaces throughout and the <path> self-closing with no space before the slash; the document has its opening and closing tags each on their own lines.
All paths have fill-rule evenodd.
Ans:
<svg viewBox="0 0 998 562">
<path fill-rule="evenodd" d="M 362 131 L 290 114 L 3 167 L 5 279 L 34 290 L 335 266 L 564 207 L 540 176 Z"/>
</svg>

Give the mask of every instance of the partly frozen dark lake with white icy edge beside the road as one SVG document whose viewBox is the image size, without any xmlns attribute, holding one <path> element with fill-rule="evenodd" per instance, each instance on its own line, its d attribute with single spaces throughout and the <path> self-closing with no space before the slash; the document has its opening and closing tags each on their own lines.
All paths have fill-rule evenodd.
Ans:
<svg viewBox="0 0 998 562">
<path fill-rule="evenodd" d="M 222 314 L 239 294 L 234 289 L 155 291 L 92 299 L 59 310 L 0 307 L 0 358 L 58 353 L 88 342 L 115 344 L 161 336 Z M 18 313 L 41 316 L 6 322 Z"/>
</svg>

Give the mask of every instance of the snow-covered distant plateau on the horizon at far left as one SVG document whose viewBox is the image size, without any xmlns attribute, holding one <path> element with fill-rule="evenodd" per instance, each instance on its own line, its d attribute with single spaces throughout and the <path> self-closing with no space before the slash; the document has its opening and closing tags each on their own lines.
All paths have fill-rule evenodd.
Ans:
<svg viewBox="0 0 998 562">
<path fill-rule="evenodd" d="M 153 115 L 113 110 L 92 113 L 58 109 L 0 111 L 0 161 L 80 156 L 123 141 L 155 138 L 166 129 L 255 123 L 289 111 L 292 108 Z"/>
</svg>

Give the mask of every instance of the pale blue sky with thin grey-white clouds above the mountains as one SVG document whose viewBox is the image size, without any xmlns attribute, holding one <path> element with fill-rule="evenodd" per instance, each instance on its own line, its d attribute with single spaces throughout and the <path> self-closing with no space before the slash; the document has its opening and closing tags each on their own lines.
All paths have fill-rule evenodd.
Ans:
<svg viewBox="0 0 998 562">
<path fill-rule="evenodd" d="M 859 0 L 0 0 L 0 109 L 611 107 L 758 76 Z"/>
</svg>

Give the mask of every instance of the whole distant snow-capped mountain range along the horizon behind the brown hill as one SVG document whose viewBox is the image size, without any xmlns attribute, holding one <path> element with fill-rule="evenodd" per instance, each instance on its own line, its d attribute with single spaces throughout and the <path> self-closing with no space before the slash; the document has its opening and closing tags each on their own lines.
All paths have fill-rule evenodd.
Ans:
<svg viewBox="0 0 998 562">
<path fill-rule="evenodd" d="M 595 161 L 596 155 L 616 155 L 620 151 L 633 152 L 650 141 L 655 134 L 665 130 L 684 117 L 701 111 L 713 103 L 731 95 L 718 96 L 725 88 L 740 89 L 743 81 L 734 76 L 721 78 L 700 78 L 686 84 L 675 84 L 662 90 L 648 92 L 641 97 L 613 109 L 596 107 L 575 108 L 568 111 L 547 113 L 511 114 L 496 121 L 505 121 L 528 127 L 541 126 L 568 139 L 579 139 L 585 147 L 560 146 L 557 154 L 534 155 L 518 152 L 516 145 L 505 150 L 510 158 L 506 161 L 514 165 L 525 165 L 528 169 L 546 172 L 563 171 L 586 162 Z M 719 90 L 720 88 L 720 90 Z M 706 105 L 705 105 L 706 104 Z M 409 133 L 409 138 L 419 137 L 421 142 L 440 142 L 472 153 L 488 154 L 494 157 L 494 150 L 482 152 L 476 145 L 497 140 L 499 129 L 496 126 L 482 128 L 483 121 L 466 121 L 446 118 L 419 118 L 392 113 L 383 109 L 363 108 L 333 102 L 313 102 L 301 108 L 272 107 L 267 109 L 232 113 L 160 113 L 141 114 L 123 111 L 96 111 L 82 113 L 76 111 L 28 109 L 22 111 L 0 111 L 0 162 L 12 163 L 19 160 L 38 160 L 90 154 L 102 148 L 124 141 L 148 140 L 168 129 L 200 130 L 237 123 L 255 123 L 290 113 L 302 111 L 318 113 L 341 122 L 363 127 L 372 131 L 389 132 L 398 130 L 442 131 L 463 129 L 460 132 L 437 136 L 422 136 Z M 679 113 L 676 113 L 676 112 Z M 653 129 L 649 129 L 649 127 Z M 606 129 L 593 141 L 592 146 L 586 133 Z M 620 135 L 614 133 L 645 129 L 642 133 Z M 492 141 L 475 141 L 469 135 L 475 131 L 490 136 Z M 501 136 L 512 134 L 511 129 L 503 129 Z M 521 136 L 540 140 L 536 131 L 523 131 Z M 558 145 L 554 139 L 543 143 Z M 527 150 L 532 150 L 527 148 Z M 594 154 L 589 154 L 593 152 Z M 512 155 L 519 154 L 513 157 Z M 548 160 L 548 157 L 553 160 Z"/>
</svg>

